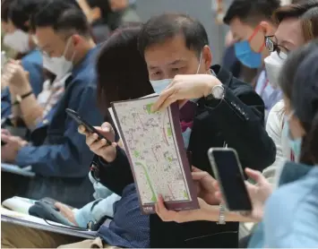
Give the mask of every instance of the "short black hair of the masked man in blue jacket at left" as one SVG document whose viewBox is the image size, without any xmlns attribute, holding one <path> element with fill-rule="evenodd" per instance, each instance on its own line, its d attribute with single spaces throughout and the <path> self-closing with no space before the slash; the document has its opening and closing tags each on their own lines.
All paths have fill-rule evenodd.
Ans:
<svg viewBox="0 0 318 249">
<path fill-rule="evenodd" d="M 81 7 L 74 0 L 50 0 L 41 4 L 30 21 L 31 28 L 51 27 L 55 31 L 74 31 L 90 37 L 90 24 Z"/>
</svg>

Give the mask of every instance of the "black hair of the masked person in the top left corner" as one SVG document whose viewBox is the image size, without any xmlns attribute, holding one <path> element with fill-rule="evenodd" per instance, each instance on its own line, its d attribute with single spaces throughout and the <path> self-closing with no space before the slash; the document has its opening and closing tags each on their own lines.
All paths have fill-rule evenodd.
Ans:
<svg viewBox="0 0 318 249">
<path fill-rule="evenodd" d="M 32 14 L 37 13 L 40 4 L 47 2 L 46 0 L 13 0 L 10 4 L 8 19 L 13 21 L 15 28 L 28 32 L 30 25 L 26 23 L 30 21 Z"/>
</svg>

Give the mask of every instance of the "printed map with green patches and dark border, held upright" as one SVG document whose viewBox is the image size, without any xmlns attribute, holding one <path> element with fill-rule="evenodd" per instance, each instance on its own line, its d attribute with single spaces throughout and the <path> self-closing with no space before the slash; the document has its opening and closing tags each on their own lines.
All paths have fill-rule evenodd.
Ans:
<svg viewBox="0 0 318 249">
<path fill-rule="evenodd" d="M 151 112 L 158 97 L 112 103 L 144 213 L 161 194 L 168 210 L 199 207 L 186 158 L 177 105 Z"/>
</svg>

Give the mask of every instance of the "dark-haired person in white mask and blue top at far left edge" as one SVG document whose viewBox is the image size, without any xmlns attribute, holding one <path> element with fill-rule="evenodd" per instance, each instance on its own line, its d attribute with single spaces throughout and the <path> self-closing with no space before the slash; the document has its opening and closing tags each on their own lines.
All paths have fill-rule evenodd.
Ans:
<svg viewBox="0 0 318 249">
<path fill-rule="evenodd" d="M 28 4 L 35 4 L 38 0 L 4 0 L 1 3 L 1 25 L 4 30 L 4 45 L 11 47 L 21 54 L 21 66 L 29 74 L 30 89 L 35 96 L 42 90 L 44 74 L 42 70 L 42 56 L 36 49 L 36 44 L 30 34 L 29 16 L 30 11 L 25 8 Z M 6 72 L 2 75 L 2 84 L 6 82 Z M 29 82 L 28 81 L 28 82 Z M 13 88 L 4 88 L 1 92 L 1 116 L 11 114 L 11 104 L 16 101 L 16 97 L 28 92 L 23 92 L 20 82 L 15 82 Z"/>
</svg>

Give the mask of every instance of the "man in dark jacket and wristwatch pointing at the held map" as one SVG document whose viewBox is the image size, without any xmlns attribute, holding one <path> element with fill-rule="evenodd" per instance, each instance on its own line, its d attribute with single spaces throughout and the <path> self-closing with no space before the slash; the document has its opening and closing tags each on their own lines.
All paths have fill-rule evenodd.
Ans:
<svg viewBox="0 0 318 249">
<path fill-rule="evenodd" d="M 219 65 L 211 67 L 208 36 L 199 21 L 183 14 L 153 17 L 143 26 L 138 44 L 148 66 L 151 85 L 161 94 L 159 101 L 163 104 L 156 103 L 154 110 L 168 107 L 179 99 L 197 102 L 195 115 L 180 120 L 189 124 L 184 140 L 193 166 L 212 174 L 207 151 L 227 144 L 237 150 L 244 167 L 257 165 L 262 170 L 271 165 L 275 145 L 263 127 L 262 99 L 251 86 L 239 82 Z M 170 82 L 170 88 L 165 90 Z M 165 99 L 167 96 L 171 98 Z M 191 102 L 187 103 L 193 107 Z M 100 131 L 107 135 L 106 131 Z M 90 150 L 100 157 L 101 183 L 121 195 L 125 186 L 133 183 L 125 151 L 115 144 L 97 142 L 96 134 L 86 133 L 86 136 Z M 236 222 L 224 226 L 201 221 L 164 223 L 157 215 L 150 215 L 150 246 L 236 247 L 237 230 Z"/>
</svg>

